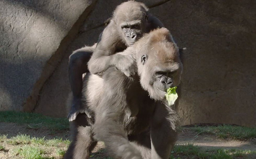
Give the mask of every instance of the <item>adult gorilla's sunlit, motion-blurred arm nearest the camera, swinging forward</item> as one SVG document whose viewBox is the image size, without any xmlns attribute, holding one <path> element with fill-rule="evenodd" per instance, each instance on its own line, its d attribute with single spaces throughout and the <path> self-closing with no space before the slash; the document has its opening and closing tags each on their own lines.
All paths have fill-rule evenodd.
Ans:
<svg viewBox="0 0 256 159">
<path fill-rule="evenodd" d="M 104 141 L 115 159 L 142 159 L 140 151 L 128 141 L 123 124 L 124 118 L 128 118 L 125 114 L 126 88 L 130 79 L 116 68 L 110 68 L 105 73 L 104 96 L 95 113 L 94 137 Z"/>
</svg>

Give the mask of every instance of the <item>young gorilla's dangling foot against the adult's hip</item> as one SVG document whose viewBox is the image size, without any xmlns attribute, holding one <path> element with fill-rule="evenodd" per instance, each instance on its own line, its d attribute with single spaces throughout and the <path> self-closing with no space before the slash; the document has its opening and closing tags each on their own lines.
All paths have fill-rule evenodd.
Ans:
<svg viewBox="0 0 256 159">
<path fill-rule="evenodd" d="M 90 111 L 87 108 L 83 108 L 81 105 L 81 100 L 78 100 L 76 102 L 73 102 L 72 104 L 71 110 L 68 114 L 68 121 L 72 122 L 73 120 L 75 120 L 76 116 L 79 113 L 85 113 L 88 116 L 88 118 L 92 118 Z"/>
</svg>

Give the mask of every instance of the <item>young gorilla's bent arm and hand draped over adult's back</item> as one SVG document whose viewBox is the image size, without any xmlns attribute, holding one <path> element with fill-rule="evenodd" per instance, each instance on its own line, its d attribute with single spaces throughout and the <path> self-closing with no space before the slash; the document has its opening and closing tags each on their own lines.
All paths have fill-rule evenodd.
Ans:
<svg viewBox="0 0 256 159">
<path fill-rule="evenodd" d="M 133 67 L 136 65 L 136 62 L 132 56 L 115 54 L 116 50 L 120 49 L 118 47 L 122 47 L 121 49 L 126 48 L 118 34 L 120 33 L 116 30 L 114 22 L 111 21 L 102 32 L 96 49 L 88 62 L 90 73 L 102 75 L 109 67 L 116 66 L 126 76 L 130 76 L 130 73 L 134 74 Z"/>
</svg>

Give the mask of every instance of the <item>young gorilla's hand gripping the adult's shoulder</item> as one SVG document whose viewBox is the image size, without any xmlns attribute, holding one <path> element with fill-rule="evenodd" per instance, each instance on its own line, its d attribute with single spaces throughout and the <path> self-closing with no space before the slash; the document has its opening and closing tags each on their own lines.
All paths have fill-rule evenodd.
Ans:
<svg viewBox="0 0 256 159">
<path fill-rule="evenodd" d="M 122 71 L 127 77 L 135 75 L 137 72 L 137 65 L 136 60 L 132 57 L 132 55 L 116 54 L 116 56 L 118 56 L 116 68 Z"/>
</svg>

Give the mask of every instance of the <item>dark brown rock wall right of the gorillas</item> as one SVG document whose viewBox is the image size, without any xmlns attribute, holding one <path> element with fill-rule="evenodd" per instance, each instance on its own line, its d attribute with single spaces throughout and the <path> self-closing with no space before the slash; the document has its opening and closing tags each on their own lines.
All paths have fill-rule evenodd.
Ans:
<svg viewBox="0 0 256 159">
<path fill-rule="evenodd" d="M 255 1 L 191 0 L 151 10 L 188 48 L 178 106 L 182 124 L 256 126 L 255 7 Z"/>
</svg>

